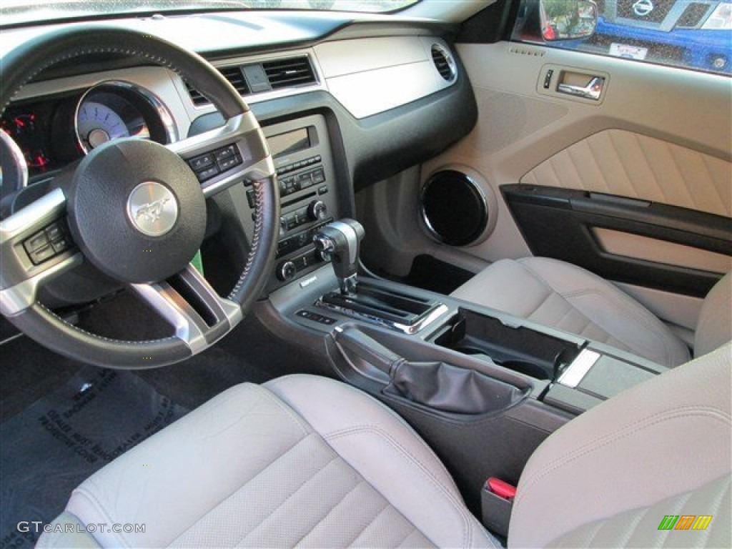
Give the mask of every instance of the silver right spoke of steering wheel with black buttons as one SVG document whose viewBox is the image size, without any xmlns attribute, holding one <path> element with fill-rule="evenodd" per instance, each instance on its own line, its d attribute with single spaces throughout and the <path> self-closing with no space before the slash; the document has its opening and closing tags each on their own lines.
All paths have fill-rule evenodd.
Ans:
<svg viewBox="0 0 732 549">
<path fill-rule="evenodd" d="M 232 116 L 222 127 L 171 143 L 168 149 L 190 165 L 206 198 L 242 181 L 275 174 L 266 140 L 251 111 Z"/>
</svg>

